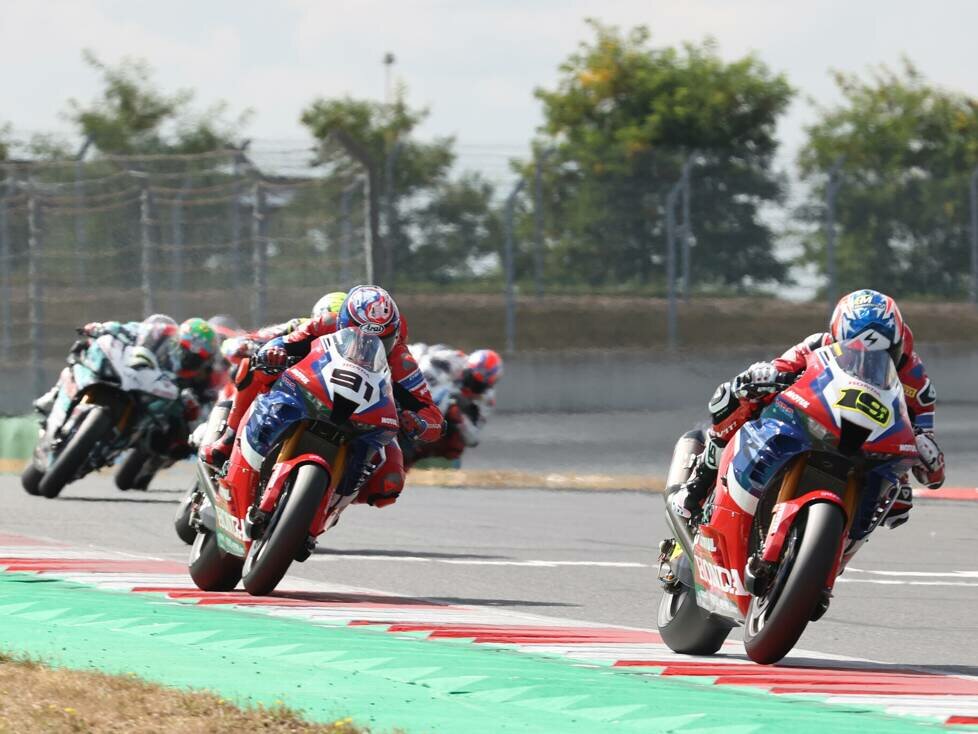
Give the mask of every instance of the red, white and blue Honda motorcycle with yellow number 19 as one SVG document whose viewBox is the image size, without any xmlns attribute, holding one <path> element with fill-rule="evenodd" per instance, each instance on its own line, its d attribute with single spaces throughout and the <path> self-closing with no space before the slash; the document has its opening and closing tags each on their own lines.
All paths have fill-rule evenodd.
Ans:
<svg viewBox="0 0 978 734">
<path fill-rule="evenodd" d="M 676 445 L 658 628 L 675 652 L 712 655 L 743 625 L 747 655 L 769 664 L 826 612 L 836 577 L 885 517 L 917 448 L 892 359 L 858 340 L 815 350 L 790 387 L 740 409 L 759 417 L 724 449 L 692 526 L 668 495 L 688 478 L 704 436 L 691 431 Z"/>
</svg>

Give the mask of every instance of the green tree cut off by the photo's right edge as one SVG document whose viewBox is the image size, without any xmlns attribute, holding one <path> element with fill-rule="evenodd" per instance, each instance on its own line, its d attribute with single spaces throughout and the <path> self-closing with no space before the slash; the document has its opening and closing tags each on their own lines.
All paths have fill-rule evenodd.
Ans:
<svg viewBox="0 0 978 734">
<path fill-rule="evenodd" d="M 868 78 L 835 74 L 843 102 L 821 109 L 799 155 L 813 182 L 803 214 L 824 216 L 824 174 L 841 163 L 839 290 L 961 296 L 967 291 L 968 176 L 978 163 L 978 99 L 927 82 L 909 61 Z M 823 269 L 822 233 L 806 255 Z"/>
</svg>

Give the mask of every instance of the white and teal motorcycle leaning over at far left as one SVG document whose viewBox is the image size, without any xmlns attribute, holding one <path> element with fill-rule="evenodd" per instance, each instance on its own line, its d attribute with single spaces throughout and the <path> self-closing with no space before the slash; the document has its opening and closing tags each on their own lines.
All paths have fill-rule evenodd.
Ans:
<svg viewBox="0 0 978 734">
<path fill-rule="evenodd" d="M 54 406 L 21 474 L 29 494 L 57 497 L 70 482 L 165 430 L 180 390 L 161 364 L 162 351 L 103 334 L 69 355 Z"/>
</svg>

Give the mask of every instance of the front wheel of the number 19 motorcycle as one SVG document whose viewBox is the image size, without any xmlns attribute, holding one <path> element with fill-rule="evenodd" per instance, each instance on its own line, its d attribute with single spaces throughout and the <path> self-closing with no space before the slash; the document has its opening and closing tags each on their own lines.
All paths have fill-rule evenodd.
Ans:
<svg viewBox="0 0 978 734">
<path fill-rule="evenodd" d="M 834 570 L 845 527 L 842 508 L 830 502 L 808 505 L 795 519 L 774 581 L 747 610 L 744 648 L 755 663 L 776 663 L 798 642 Z"/>
</svg>

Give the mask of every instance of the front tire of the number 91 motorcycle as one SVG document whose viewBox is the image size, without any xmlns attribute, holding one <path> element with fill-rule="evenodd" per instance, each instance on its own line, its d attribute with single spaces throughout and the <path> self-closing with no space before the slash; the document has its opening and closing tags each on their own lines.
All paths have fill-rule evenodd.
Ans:
<svg viewBox="0 0 978 734">
<path fill-rule="evenodd" d="M 318 464 L 302 464 L 288 496 L 268 523 L 265 535 L 251 544 L 245 558 L 244 587 L 254 596 L 274 591 L 292 561 L 305 548 L 319 503 L 329 488 L 329 473 Z"/>
</svg>

